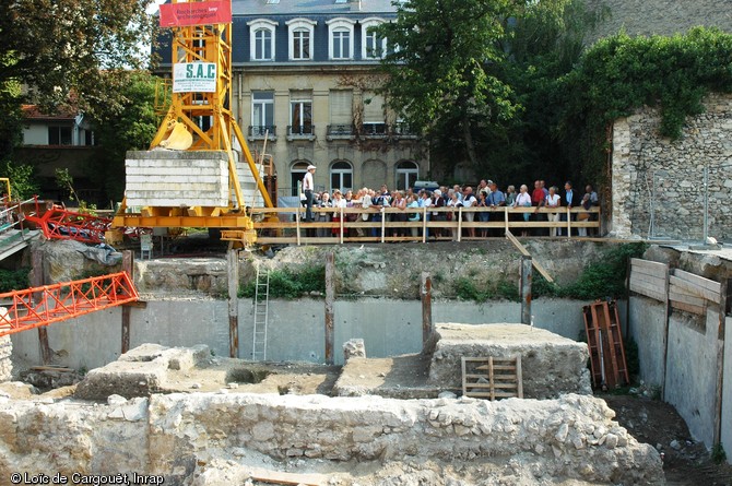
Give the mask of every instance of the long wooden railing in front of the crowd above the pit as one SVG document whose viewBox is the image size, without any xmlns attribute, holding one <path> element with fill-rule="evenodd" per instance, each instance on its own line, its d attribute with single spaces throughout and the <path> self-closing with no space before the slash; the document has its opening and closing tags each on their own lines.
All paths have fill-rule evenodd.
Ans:
<svg viewBox="0 0 732 486">
<path fill-rule="evenodd" d="M 251 209 L 257 242 L 276 244 L 343 244 L 343 242 L 391 242 L 445 240 L 463 241 L 484 239 L 488 236 L 504 237 L 506 230 L 521 236 L 523 232 L 534 235 L 543 232 L 550 236 L 556 229 L 566 238 L 577 237 L 578 230 L 599 233 L 600 208 L 312 208 L 316 221 L 306 223 L 304 208 L 253 208 Z M 394 215 L 414 217 L 420 221 L 394 221 Z M 524 221 L 523 214 L 530 220 Z M 368 214 L 364 221 L 362 215 Z M 472 220 L 469 214 L 472 214 Z M 488 214 L 488 221 L 480 221 L 481 214 Z M 552 221 L 558 214 L 562 221 Z M 580 216 L 581 215 L 581 216 Z M 324 216 L 324 217 L 322 217 Z M 351 216 L 351 217 L 349 217 Z M 376 216 L 376 217 L 375 217 Z M 538 216 L 540 220 L 538 220 Z M 323 221 L 319 221 L 322 217 Z M 402 216 L 403 217 L 403 216 Z M 330 221 L 328 221 L 330 220 Z M 355 221 L 351 221 L 355 220 Z M 376 220 L 376 221 L 375 221 Z M 413 229 L 415 229 L 413 234 Z M 467 236 L 473 230 L 475 236 Z"/>
</svg>

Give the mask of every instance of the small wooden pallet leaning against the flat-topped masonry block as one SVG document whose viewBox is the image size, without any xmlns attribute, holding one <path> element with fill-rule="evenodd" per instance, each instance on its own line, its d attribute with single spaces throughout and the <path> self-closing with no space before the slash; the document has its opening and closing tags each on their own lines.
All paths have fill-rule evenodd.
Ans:
<svg viewBox="0 0 732 486">
<path fill-rule="evenodd" d="M 462 395 L 477 399 L 523 398 L 521 356 L 465 357 L 462 363 Z"/>
</svg>

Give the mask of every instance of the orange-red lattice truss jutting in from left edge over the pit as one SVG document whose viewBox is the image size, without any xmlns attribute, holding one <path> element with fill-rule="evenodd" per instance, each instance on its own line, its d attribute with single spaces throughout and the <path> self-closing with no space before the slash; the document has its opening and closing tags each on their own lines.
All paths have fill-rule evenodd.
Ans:
<svg viewBox="0 0 732 486">
<path fill-rule="evenodd" d="M 138 300 L 127 272 L 0 294 L 0 336 Z"/>
</svg>

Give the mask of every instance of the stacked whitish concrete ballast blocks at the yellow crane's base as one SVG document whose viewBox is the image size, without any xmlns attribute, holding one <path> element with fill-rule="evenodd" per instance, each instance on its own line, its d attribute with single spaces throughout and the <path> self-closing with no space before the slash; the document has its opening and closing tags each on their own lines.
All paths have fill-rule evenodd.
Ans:
<svg viewBox="0 0 732 486">
<path fill-rule="evenodd" d="M 228 204 L 228 156 L 223 151 L 130 151 L 125 161 L 127 204 Z"/>
</svg>

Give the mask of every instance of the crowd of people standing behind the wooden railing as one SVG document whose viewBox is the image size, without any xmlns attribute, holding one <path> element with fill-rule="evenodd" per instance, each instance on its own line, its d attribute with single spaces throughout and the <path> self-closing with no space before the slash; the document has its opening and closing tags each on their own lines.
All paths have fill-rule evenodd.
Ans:
<svg viewBox="0 0 732 486">
<path fill-rule="evenodd" d="M 357 191 L 347 190 L 342 192 L 339 189 L 333 190 L 332 194 L 323 192 L 315 192 L 312 190 L 312 174 L 315 173 L 315 166 L 308 167 L 308 174 L 303 180 L 304 187 L 304 201 L 303 204 L 306 206 L 305 221 L 340 221 L 339 212 L 312 212 L 311 208 L 399 208 L 401 210 L 416 210 L 423 208 L 529 208 L 533 206 L 533 212 L 517 212 L 509 217 L 513 221 L 552 221 L 559 222 L 566 221 L 567 213 L 564 210 L 557 210 L 556 213 L 553 212 L 539 212 L 540 208 L 579 208 L 582 206 L 586 210 L 598 205 L 598 193 L 593 190 L 592 186 L 587 186 L 585 188 L 585 193 L 580 194 L 577 190 L 574 189 L 570 181 L 565 182 L 564 190 L 559 191 L 556 186 L 546 187 L 543 180 L 534 181 L 534 187 L 531 192 L 527 185 L 519 186 L 519 190 L 516 190 L 515 186 L 508 186 L 504 192 L 498 188 L 498 185 L 493 180 L 481 180 L 481 182 L 473 189 L 472 186 L 460 186 L 456 185 L 451 188 L 440 187 L 439 189 L 434 190 L 413 190 L 411 188 L 405 191 L 393 190 L 390 191 L 387 185 L 382 185 L 381 188 L 377 191 L 369 188 L 358 189 Z M 309 177 L 308 177 L 309 175 Z M 308 180 L 309 179 L 309 180 Z M 380 213 L 380 212 L 369 212 L 369 213 L 346 213 L 344 215 L 346 221 L 356 221 L 362 218 L 363 221 L 373 221 L 380 222 L 381 217 L 388 217 L 391 222 L 416 222 L 421 221 L 423 214 L 428 218 L 428 221 L 451 221 L 453 217 L 453 212 L 449 211 L 404 211 L 401 212 L 391 212 L 391 213 Z M 316 218 L 317 216 L 317 218 Z M 583 213 L 579 214 L 572 213 L 572 218 L 578 218 L 580 221 L 592 220 L 597 216 L 597 213 Z M 480 222 L 488 222 L 491 218 L 496 218 L 496 221 L 504 221 L 504 213 L 492 213 L 492 212 L 463 212 L 463 221 L 465 222 L 475 222 L 476 218 Z M 522 232 L 523 236 L 534 235 L 534 236 L 562 236 L 563 228 L 532 228 L 533 230 L 524 229 Z M 379 227 L 375 228 L 351 228 L 346 229 L 349 232 L 345 236 L 374 236 L 380 237 L 381 229 Z M 421 236 L 421 228 L 418 227 L 392 227 L 389 228 L 389 235 L 387 236 Z M 441 236 L 454 236 L 447 228 L 432 228 L 427 229 L 433 232 L 429 236 L 441 237 Z M 588 228 L 580 227 L 577 228 L 578 236 L 588 236 Z M 367 234 L 368 232 L 368 234 Z M 469 227 L 464 228 L 465 236 L 468 237 L 487 237 L 487 236 L 503 236 L 503 233 L 496 230 L 495 234 L 488 227 Z M 566 232 L 566 229 L 564 229 Z M 317 228 L 314 230 L 314 236 L 324 237 L 331 235 L 340 235 L 340 228 Z M 499 234 L 500 233 L 500 234 Z M 566 234 L 566 233 L 565 233 Z"/>
</svg>

